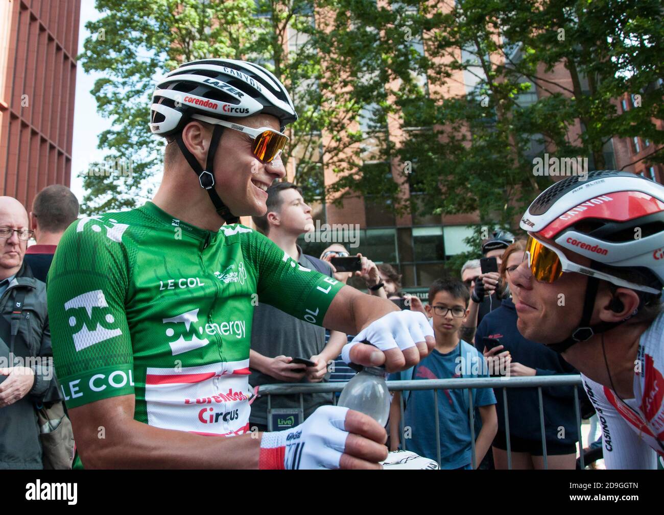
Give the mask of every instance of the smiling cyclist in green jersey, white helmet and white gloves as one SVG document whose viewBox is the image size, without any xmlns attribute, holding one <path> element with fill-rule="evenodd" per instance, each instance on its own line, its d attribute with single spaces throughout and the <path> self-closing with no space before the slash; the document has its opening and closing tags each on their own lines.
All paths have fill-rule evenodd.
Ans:
<svg viewBox="0 0 664 515">
<path fill-rule="evenodd" d="M 259 302 L 358 334 L 343 356 L 366 366 L 402 370 L 434 345 L 424 315 L 301 267 L 235 223 L 266 211 L 295 119 L 281 82 L 250 62 L 190 62 L 157 84 L 150 127 L 168 141 L 157 194 L 141 208 L 74 222 L 48 275 L 78 465 L 380 467 L 384 429 L 345 407 L 321 407 L 290 431 L 248 427 Z"/>
</svg>

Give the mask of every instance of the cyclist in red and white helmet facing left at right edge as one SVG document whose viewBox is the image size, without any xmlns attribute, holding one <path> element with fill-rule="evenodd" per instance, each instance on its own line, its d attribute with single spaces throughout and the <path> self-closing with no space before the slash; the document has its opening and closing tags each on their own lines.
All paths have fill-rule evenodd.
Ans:
<svg viewBox="0 0 664 515">
<path fill-rule="evenodd" d="M 511 273 L 519 332 L 583 378 L 603 425 L 608 469 L 664 457 L 664 186 L 594 171 L 542 192 L 521 219 Z"/>
</svg>

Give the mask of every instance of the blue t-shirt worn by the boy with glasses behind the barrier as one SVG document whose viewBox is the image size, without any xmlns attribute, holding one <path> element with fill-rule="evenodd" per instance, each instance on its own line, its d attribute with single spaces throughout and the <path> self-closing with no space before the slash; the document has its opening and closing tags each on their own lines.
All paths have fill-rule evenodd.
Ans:
<svg viewBox="0 0 664 515">
<path fill-rule="evenodd" d="M 463 377 L 466 378 L 488 377 L 483 368 L 483 356 L 467 342 L 461 340 L 460 344 L 462 360 L 459 360 L 458 345 L 447 354 L 434 349 L 414 368 L 405 373 L 390 374 L 390 380 L 449 379 L 460 377 L 459 372 L 463 372 Z M 475 407 L 496 402 L 491 388 L 473 388 L 472 392 Z M 412 390 L 403 394 L 406 399 L 404 427 L 410 427 L 410 439 L 406 440 L 406 449 L 437 460 L 436 413 L 432 410 L 434 390 Z M 441 468 L 458 469 L 469 465 L 472 461 L 472 447 L 467 388 L 438 390 L 438 423 Z"/>
</svg>

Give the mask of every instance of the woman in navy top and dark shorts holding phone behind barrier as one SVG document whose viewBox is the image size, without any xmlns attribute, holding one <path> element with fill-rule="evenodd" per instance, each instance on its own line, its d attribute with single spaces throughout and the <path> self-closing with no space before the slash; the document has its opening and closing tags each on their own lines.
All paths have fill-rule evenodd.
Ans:
<svg viewBox="0 0 664 515">
<path fill-rule="evenodd" d="M 517 329 L 515 303 L 519 301 L 511 281 L 511 273 L 523 261 L 525 243 L 510 245 L 501 259 L 499 273 L 505 285 L 505 296 L 498 309 L 481 321 L 475 335 L 475 346 L 482 348 L 494 374 L 505 376 L 550 376 L 577 373 L 560 354 L 542 344 L 527 340 Z M 499 344 L 488 348 L 488 344 Z M 507 469 L 507 435 L 503 392 L 498 392 L 498 433 L 493 441 L 496 469 Z M 537 388 L 507 388 L 509 435 L 513 469 L 543 469 L 542 433 L 540 428 L 539 394 Z M 549 469 L 576 467 L 576 415 L 574 390 L 570 386 L 542 388 L 542 408 L 546 435 L 546 456 Z"/>
</svg>

